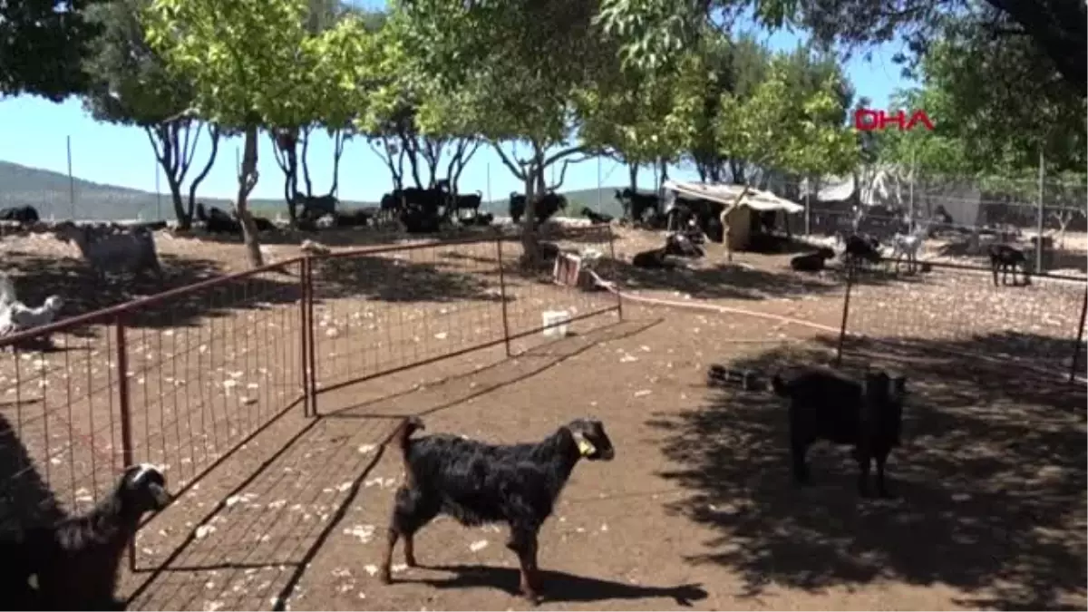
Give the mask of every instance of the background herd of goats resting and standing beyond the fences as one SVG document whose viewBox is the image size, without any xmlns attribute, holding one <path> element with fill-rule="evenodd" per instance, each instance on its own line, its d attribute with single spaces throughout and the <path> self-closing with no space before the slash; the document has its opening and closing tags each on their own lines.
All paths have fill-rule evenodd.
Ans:
<svg viewBox="0 0 1088 612">
<path fill-rule="evenodd" d="M 639 193 L 630 188 L 616 189 L 615 197 L 623 208 L 621 222 L 630 222 L 634 227 L 651 230 L 669 230 L 663 246 L 634 255 L 631 264 L 636 268 L 667 268 L 670 267 L 672 257 L 702 257 L 705 255 L 702 245 L 706 241 L 720 243 L 726 240 L 727 210 L 720 203 L 677 195 L 666 205 L 656 194 Z M 381 221 L 398 220 L 407 233 L 425 234 L 438 232 L 454 222 L 486 227 L 494 221 L 493 215 L 480 211 L 482 194 L 452 193 L 448 184 L 444 182 L 428 188 L 409 187 L 385 194 L 376 212 L 337 210 L 337 200 L 333 196 L 300 199 L 301 209 L 296 219 L 296 227 L 300 231 L 359 228 Z M 567 207 L 567 199 L 562 195 L 546 192 L 536 199 L 533 207 L 534 218 L 526 221 L 536 225 L 542 224 Z M 511 193 L 509 213 L 515 223 L 522 222 L 526 208 L 526 197 Z M 213 206 L 206 207 L 203 204 L 196 206 L 195 213 L 197 225 L 209 234 L 243 233 L 242 223 L 236 215 Z M 750 248 L 781 252 L 783 242 L 789 242 L 789 237 L 783 241 L 781 236 L 771 232 L 776 215 L 775 211 L 768 211 L 752 216 L 753 232 Z M 583 208 L 582 216 L 593 224 L 614 221 L 610 216 L 590 208 Z M 922 271 L 927 271 L 929 265 L 919 264 L 917 260 L 923 244 L 940 229 L 952 227 L 951 219 L 943 209 L 939 209 L 934 218 L 918 223 L 910 223 L 908 220 L 901 218 L 897 220 L 895 228 L 891 232 L 885 232 L 891 234 L 888 244 L 885 245 L 875 235 L 858 231 L 861 219 L 861 215 L 855 215 L 846 227 L 836 232 L 836 243 L 842 247 L 841 253 L 837 254 L 827 246 L 819 247 L 793 257 L 790 267 L 799 272 L 819 272 L 825 269 L 828 260 L 838 255 L 850 269 L 863 269 L 870 264 L 885 260 L 881 253 L 888 250 L 886 247 L 890 247 L 890 259 L 894 260 L 897 271 L 903 259 L 906 260 L 910 271 L 919 267 Z M 0 221 L 32 227 L 39 223 L 40 217 L 34 207 L 22 206 L 0 210 Z M 254 216 L 254 222 L 258 232 L 279 230 L 274 222 L 262 217 Z M 63 221 L 51 225 L 50 231 L 57 238 L 74 244 L 89 268 L 100 281 L 104 282 L 108 273 L 118 272 L 150 273 L 161 280 L 163 270 L 156 250 L 153 230 L 163 227 L 164 222 L 124 225 Z M 986 230 L 981 232 L 993 233 Z M 976 238 L 979 233 L 976 230 Z M 552 250 L 556 252 L 552 255 L 558 252 L 558 248 L 549 243 L 542 245 L 552 247 Z M 1028 258 L 1023 250 L 1000 241 L 989 244 L 986 250 L 994 285 L 998 284 L 999 271 L 1002 283 L 1007 282 L 1011 272 L 1013 284 L 1018 284 L 1017 268 L 1022 273 L 1023 284 L 1030 283 L 1027 272 Z M 545 254 L 545 259 L 549 258 L 547 255 Z M 36 307 L 23 304 L 15 295 L 11 279 L 0 273 L 0 336 L 51 322 L 62 305 L 63 301 L 58 295 L 48 297 Z"/>
</svg>

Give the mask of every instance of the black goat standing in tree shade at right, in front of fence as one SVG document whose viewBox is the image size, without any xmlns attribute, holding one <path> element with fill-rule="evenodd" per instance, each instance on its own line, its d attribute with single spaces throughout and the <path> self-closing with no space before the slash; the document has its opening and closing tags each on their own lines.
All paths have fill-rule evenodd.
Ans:
<svg viewBox="0 0 1088 612">
<path fill-rule="evenodd" d="M 790 452 L 799 484 L 808 481 L 808 446 L 827 440 L 854 448 L 857 489 L 863 497 L 869 494 L 869 472 L 876 460 L 877 493 L 889 497 L 885 465 L 900 444 L 905 377 L 870 371 L 858 383 L 831 370 L 811 368 L 789 381 L 776 375 L 771 387 L 790 400 Z"/>
</svg>

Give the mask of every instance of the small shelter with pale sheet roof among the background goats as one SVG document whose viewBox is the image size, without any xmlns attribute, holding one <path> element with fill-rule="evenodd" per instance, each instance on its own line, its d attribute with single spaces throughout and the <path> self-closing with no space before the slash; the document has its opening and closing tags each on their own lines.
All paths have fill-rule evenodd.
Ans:
<svg viewBox="0 0 1088 612">
<path fill-rule="evenodd" d="M 725 243 L 729 250 L 744 250 L 747 247 L 752 234 L 758 231 L 758 212 L 781 210 L 794 215 L 805 210 L 804 206 L 770 192 L 750 187 L 745 193 L 744 185 L 666 181 L 663 186 L 677 195 L 722 205 L 728 229 Z"/>
</svg>

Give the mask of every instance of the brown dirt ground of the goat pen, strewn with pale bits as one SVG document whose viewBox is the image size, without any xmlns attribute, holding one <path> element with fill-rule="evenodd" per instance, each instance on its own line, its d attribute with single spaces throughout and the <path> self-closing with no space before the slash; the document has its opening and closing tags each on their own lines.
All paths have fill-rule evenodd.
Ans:
<svg viewBox="0 0 1088 612">
<path fill-rule="evenodd" d="M 63 246 L 10 240 L 5 260 L 27 302 L 86 283 L 55 258 Z M 623 232 L 617 256 L 629 261 L 659 240 Z M 243 267 L 236 244 L 163 238 L 160 250 L 171 283 Z M 504 261 L 517 250 L 504 248 Z M 268 253 L 286 258 L 297 245 Z M 606 292 L 499 278 L 496 256 L 490 244 L 437 247 L 322 270 L 319 387 L 500 339 L 498 283 L 512 296 L 511 333 L 540 326 L 544 309 L 613 304 Z M 1088 396 L 1048 378 L 1070 365 L 1084 286 L 993 287 L 986 276 L 942 271 L 854 285 L 851 329 L 861 335 L 849 339 L 845 367 L 893 367 L 914 391 L 890 467 L 900 499 L 870 501 L 857 498 L 854 468 L 832 449 L 814 452 L 815 484 L 794 488 L 778 402 L 707 387 L 712 363 L 766 372 L 832 355 L 842 279 L 790 273 L 788 259 L 742 254 L 724 265 L 712 248 L 691 268 L 618 264 L 609 278 L 634 295 L 704 309 L 628 302 L 623 321 L 608 313 L 576 321 L 567 339 L 516 341 L 514 359 L 499 344 L 324 392 L 320 418 L 297 406 L 275 418 L 301 387 L 297 279 L 270 274 L 133 321 L 126 346 L 147 362 L 129 364 L 141 415 L 135 458 L 165 464 L 172 484 L 211 472 L 139 533 L 138 570 L 123 582 L 131 609 L 526 609 L 511 595 L 505 534 L 493 527 L 436 521 L 417 547 L 432 567 L 395 566 L 388 587 L 374 579 L 400 478 L 382 444 L 397 417 L 421 414 L 429 430 L 495 442 L 540 439 L 578 416 L 604 420 L 616 461 L 579 465 L 541 534 L 548 608 L 1088 610 Z M 47 262 L 34 269 L 46 279 L 27 282 L 30 266 Z M 72 309 L 152 289 L 76 289 Z M 22 452 L 50 466 L 37 472 L 67 507 L 88 503 L 120 465 L 111 333 L 57 339 L 83 343 L 82 356 L 0 359 L 3 417 L 37 416 Z M 69 372 L 63 382 L 59 371 Z M 32 393 L 44 399 L 37 407 Z"/>
</svg>

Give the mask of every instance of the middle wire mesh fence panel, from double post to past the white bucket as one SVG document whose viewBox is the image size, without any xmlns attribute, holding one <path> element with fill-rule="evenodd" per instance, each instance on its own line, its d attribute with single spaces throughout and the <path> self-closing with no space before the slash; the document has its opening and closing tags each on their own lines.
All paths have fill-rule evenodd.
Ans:
<svg viewBox="0 0 1088 612">
<path fill-rule="evenodd" d="M 613 235 L 588 228 L 554 238 L 571 252 L 607 252 Z M 542 331 L 546 311 L 580 319 L 615 309 L 615 297 L 556 285 L 551 270 L 526 276 L 521 252 L 496 236 L 314 258 L 316 391 L 509 346 Z"/>
</svg>

